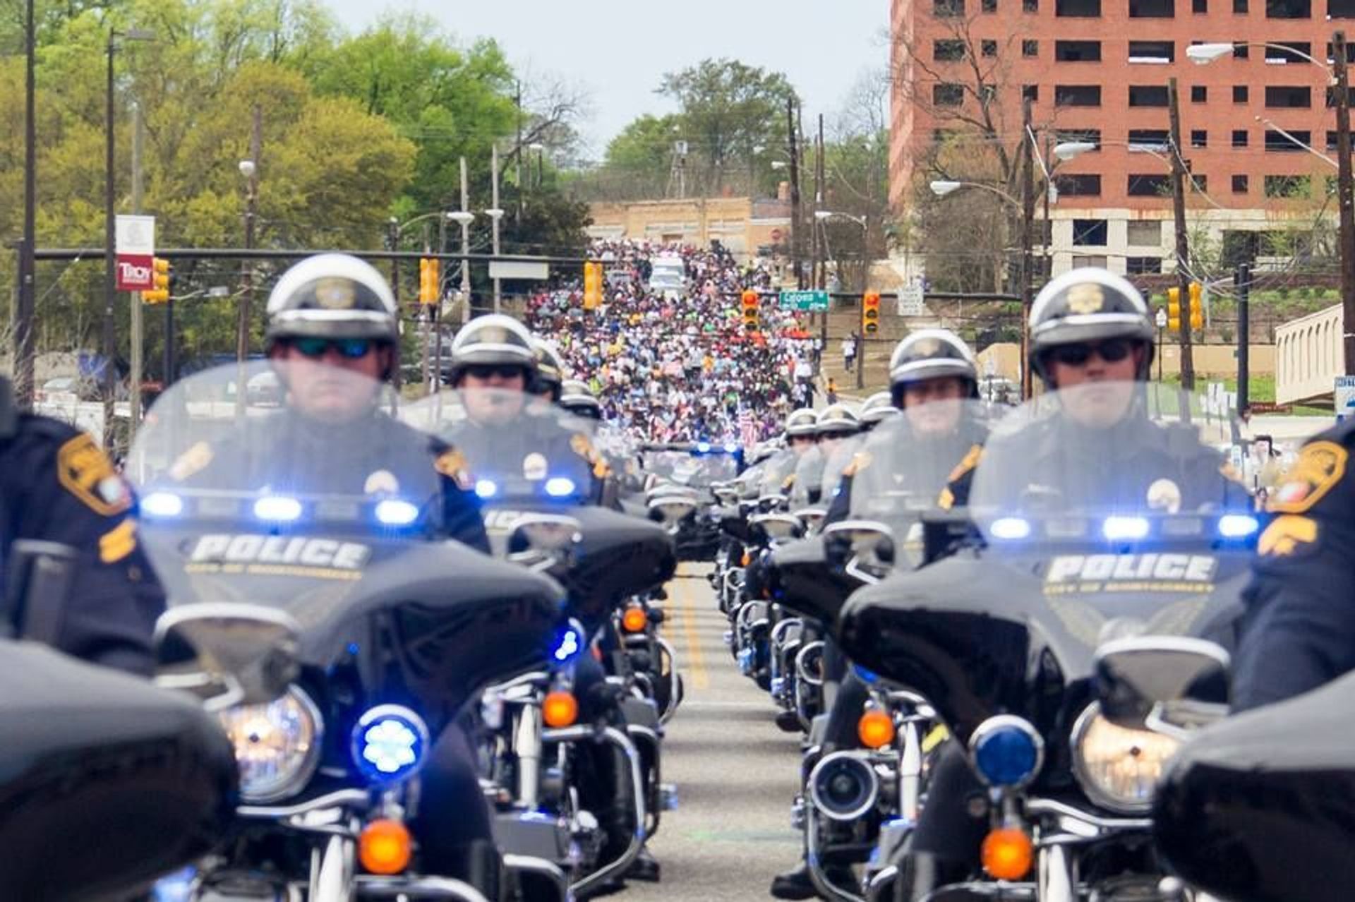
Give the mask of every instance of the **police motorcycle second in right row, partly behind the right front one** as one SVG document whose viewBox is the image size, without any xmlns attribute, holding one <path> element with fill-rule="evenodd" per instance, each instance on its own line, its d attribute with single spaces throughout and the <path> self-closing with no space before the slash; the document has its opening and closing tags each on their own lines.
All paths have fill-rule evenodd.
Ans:
<svg viewBox="0 0 1355 902">
<path fill-rule="evenodd" d="M 947 477 L 986 428 L 986 408 L 970 400 L 883 418 L 856 446 L 848 467 L 847 519 L 772 554 L 778 603 L 827 634 L 852 592 L 919 566 L 921 519 L 936 508 Z M 806 645 L 795 661 L 798 684 L 835 699 L 839 685 L 827 664 L 824 642 Z M 921 695 L 864 668 L 851 669 L 866 692 L 843 722 L 855 727 L 850 735 L 829 735 L 813 704 L 799 702 L 797 708 L 808 742 L 793 821 L 805 832 L 809 875 L 831 899 L 860 898 L 858 883 L 869 884 L 916 822 L 924 763 L 936 741 L 935 712 Z M 801 689 L 799 697 L 805 695 Z M 847 871 L 856 864 L 864 864 L 860 878 Z"/>
</svg>

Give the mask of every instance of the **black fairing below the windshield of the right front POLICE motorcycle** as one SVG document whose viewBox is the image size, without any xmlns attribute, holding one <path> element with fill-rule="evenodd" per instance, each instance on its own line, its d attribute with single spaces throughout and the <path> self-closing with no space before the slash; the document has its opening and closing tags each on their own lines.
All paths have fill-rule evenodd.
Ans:
<svg viewBox="0 0 1355 902">
<path fill-rule="evenodd" d="M 1030 718 L 1066 737 L 1089 703 L 1092 656 L 1117 620 L 1149 634 L 1232 645 L 1247 580 L 1244 550 L 1214 554 L 1209 592 L 1046 595 L 1053 558 L 974 550 L 855 592 L 839 639 L 854 661 L 928 699 L 962 742 L 996 714 Z"/>
</svg>

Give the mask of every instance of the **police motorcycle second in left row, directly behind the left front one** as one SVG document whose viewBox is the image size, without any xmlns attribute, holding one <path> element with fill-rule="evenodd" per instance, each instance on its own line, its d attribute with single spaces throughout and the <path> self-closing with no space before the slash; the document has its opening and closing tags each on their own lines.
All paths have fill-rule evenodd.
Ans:
<svg viewBox="0 0 1355 902">
<path fill-rule="evenodd" d="M 623 626 L 633 599 L 672 577 L 672 539 L 599 504 L 607 466 L 595 420 L 505 389 L 443 391 L 404 418 L 458 448 L 495 553 L 566 590 L 570 645 L 554 666 L 486 689 L 480 707 L 500 842 L 557 861 L 572 893 L 604 888 L 676 804 L 660 779 L 654 687 L 633 670 Z"/>
</svg>

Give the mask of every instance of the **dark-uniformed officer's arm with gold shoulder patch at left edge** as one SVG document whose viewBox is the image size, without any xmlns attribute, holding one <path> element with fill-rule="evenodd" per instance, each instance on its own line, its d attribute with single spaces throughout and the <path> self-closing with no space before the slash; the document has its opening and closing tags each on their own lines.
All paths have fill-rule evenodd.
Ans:
<svg viewBox="0 0 1355 902">
<path fill-rule="evenodd" d="M 57 542 L 76 553 L 65 597 L 11 597 L 14 544 Z M 150 674 L 165 599 L 137 539 L 131 492 L 84 432 L 19 413 L 0 378 L 0 597 L 16 634 L 92 664 Z M 27 601 L 43 607 L 23 609 Z"/>
</svg>

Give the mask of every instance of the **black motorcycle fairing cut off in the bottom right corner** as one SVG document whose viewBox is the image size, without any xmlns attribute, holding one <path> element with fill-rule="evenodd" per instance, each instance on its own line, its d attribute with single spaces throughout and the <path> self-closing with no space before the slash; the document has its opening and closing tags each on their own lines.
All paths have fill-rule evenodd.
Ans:
<svg viewBox="0 0 1355 902">
<path fill-rule="evenodd" d="M 1337 902 L 1355 886 L 1355 674 L 1202 730 L 1172 758 L 1153 836 L 1236 902 Z"/>
</svg>

